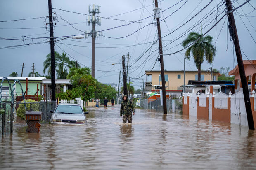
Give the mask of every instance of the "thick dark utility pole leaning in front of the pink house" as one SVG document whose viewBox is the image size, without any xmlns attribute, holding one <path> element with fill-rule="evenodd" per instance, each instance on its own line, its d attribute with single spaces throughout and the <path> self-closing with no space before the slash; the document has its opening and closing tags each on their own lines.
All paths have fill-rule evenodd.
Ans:
<svg viewBox="0 0 256 170">
<path fill-rule="evenodd" d="M 244 63 L 243 63 L 242 54 L 241 54 L 240 45 L 239 45 L 237 28 L 235 25 L 235 19 L 232 11 L 233 10 L 232 3 L 230 2 L 230 0 L 226 0 L 226 10 L 228 13 L 228 22 L 229 22 L 228 28 L 230 32 L 230 37 L 235 46 L 235 53 L 237 56 L 237 65 L 239 68 L 239 74 L 240 74 L 240 79 L 241 79 L 243 93 L 244 93 L 244 103 L 245 103 L 245 109 L 247 114 L 248 127 L 249 129 L 254 130 L 254 119 L 251 111 L 251 102 L 249 97 L 248 84 L 247 84 L 246 75 L 244 71 Z"/>
</svg>

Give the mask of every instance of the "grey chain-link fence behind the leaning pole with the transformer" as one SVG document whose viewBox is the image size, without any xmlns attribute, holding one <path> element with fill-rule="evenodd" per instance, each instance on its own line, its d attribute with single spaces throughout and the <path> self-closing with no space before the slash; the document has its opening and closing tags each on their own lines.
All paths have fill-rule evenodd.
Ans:
<svg viewBox="0 0 256 170">
<path fill-rule="evenodd" d="M 182 110 L 182 99 L 166 99 L 166 107 L 168 113 L 177 113 Z M 154 109 L 156 112 L 163 112 L 160 99 L 140 99 L 140 108 Z"/>
</svg>

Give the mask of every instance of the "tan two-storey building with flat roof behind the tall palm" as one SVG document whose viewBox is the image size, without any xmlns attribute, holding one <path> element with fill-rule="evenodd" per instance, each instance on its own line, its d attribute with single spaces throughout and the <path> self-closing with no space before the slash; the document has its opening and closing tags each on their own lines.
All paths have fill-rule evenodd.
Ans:
<svg viewBox="0 0 256 170">
<path fill-rule="evenodd" d="M 145 71 L 146 72 L 146 82 L 145 90 L 154 91 L 152 88 L 153 85 L 162 84 L 161 82 L 161 71 Z M 166 94 L 176 94 L 181 95 L 182 89 L 180 86 L 184 84 L 184 71 L 165 71 L 164 78 L 166 82 Z M 189 80 L 197 80 L 197 71 L 186 71 L 185 72 L 185 81 L 188 84 Z M 212 80 L 216 81 L 220 73 L 213 72 Z M 201 71 L 201 81 L 210 81 L 211 74 L 207 71 Z"/>
</svg>

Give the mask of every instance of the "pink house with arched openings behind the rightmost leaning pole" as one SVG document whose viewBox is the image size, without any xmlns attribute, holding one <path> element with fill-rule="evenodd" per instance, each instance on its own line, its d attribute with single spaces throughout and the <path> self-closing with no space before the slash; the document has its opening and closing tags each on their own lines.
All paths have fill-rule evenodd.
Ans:
<svg viewBox="0 0 256 170">
<path fill-rule="evenodd" d="M 243 60 L 244 63 L 244 71 L 248 81 L 251 81 L 251 90 L 249 89 L 249 92 L 255 91 L 255 76 L 256 76 L 256 60 Z M 238 65 L 235 66 L 233 70 L 228 72 L 228 75 L 234 75 L 235 76 L 235 91 L 240 91 L 242 88 L 242 83 L 239 75 L 239 69 Z"/>
</svg>

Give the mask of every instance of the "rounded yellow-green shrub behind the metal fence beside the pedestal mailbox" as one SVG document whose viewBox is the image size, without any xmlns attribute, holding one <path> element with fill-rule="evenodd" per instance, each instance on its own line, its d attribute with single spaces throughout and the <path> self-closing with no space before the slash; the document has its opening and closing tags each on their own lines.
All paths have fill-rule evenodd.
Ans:
<svg viewBox="0 0 256 170">
<path fill-rule="evenodd" d="M 21 118 L 22 120 L 25 120 L 26 110 L 39 111 L 39 104 L 38 103 L 30 104 L 30 103 L 36 102 L 35 100 L 33 100 L 33 99 L 25 99 L 25 102 L 26 102 L 25 105 L 26 105 L 27 109 L 25 109 L 24 104 L 21 104 L 21 103 L 24 103 L 24 101 L 22 101 L 19 104 L 19 107 L 18 107 L 18 109 L 16 111 L 17 117 Z M 32 107 L 32 108 L 30 108 L 30 107 Z"/>
</svg>

